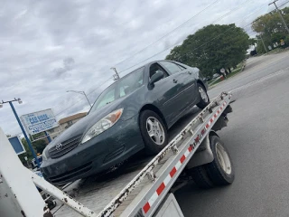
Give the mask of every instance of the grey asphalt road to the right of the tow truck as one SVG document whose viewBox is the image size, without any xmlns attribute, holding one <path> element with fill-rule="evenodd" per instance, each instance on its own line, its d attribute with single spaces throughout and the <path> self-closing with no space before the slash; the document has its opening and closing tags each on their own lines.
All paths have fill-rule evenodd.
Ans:
<svg viewBox="0 0 289 217">
<path fill-rule="evenodd" d="M 233 90 L 236 99 L 219 132 L 236 178 L 226 187 L 180 189 L 185 216 L 289 216 L 288 55 L 251 58 L 245 71 L 210 90 L 210 97 Z"/>
</svg>

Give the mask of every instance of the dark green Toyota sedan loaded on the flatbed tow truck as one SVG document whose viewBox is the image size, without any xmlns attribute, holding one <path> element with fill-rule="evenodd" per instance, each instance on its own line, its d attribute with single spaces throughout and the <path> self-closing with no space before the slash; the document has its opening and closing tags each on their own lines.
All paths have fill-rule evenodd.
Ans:
<svg viewBox="0 0 289 217">
<path fill-rule="evenodd" d="M 155 155 L 167 145 L 167 130 L 178 119 L 209 103 L 199 69 L 175 61 L 147 63 L 104 90 L 86 117 L 44 149 L 42 174 L 52 184 L 65 184 L 142 149 Z"/>
</svg>

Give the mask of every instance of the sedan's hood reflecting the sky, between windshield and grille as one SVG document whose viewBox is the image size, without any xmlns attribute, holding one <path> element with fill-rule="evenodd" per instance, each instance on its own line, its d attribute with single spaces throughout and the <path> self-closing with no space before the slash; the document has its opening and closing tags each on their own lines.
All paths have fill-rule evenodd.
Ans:
<svg viewBox="0 0 289 217">
<path fill-rule="evenodd" d="M 110 112 L 112 112 L 116 109 L 120 109 L 120 108 L 118 108 L 120 101 L 122 101 L 122 100 L 114 101 L 111 104 L 107 104 L 103 108 L 100 108 L 100 109 L 97 109 L 96 111 L 90 112 L 89 115 L 87 115 L 84 118 L 81 118 L 78 122 L 76 122 L 71 127 L 69 127 L 64 132 L 62 132 L 60 136 L 53 139 L 51 141 L 51 143 L 47 146 L 46 149 L 49 149 L 52 146 L 55 146 L 56 144 L 63 143 L 64 141 L 66 141 L 72 137 L 83 135 L 84 133 L 86 133 L 89 130 L 90 127 L 92 127 L 94 124 L 96 124 L 98 122 L 98 120 L 100 120 L 101 118 L 104 118 Z"/>
</svg>

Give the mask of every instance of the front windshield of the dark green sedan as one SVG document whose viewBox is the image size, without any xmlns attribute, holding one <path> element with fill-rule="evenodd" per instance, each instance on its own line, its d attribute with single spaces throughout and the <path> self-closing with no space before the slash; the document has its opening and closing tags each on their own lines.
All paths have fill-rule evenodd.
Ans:
<svg viewBox="0 0 289 217">
<path fill-rule="evenodd" d="M 131 92 L 139 89 L 143 84 L 144 67 L 129 73 L 128 75 L 126 75 L 126 77 L 122 78 L 121 80 L 117 80 L 117 82 L 110 85 L 100 94 L 90 112 L 100 109 L 117 99 L 125 97 Z"/>
</svg>

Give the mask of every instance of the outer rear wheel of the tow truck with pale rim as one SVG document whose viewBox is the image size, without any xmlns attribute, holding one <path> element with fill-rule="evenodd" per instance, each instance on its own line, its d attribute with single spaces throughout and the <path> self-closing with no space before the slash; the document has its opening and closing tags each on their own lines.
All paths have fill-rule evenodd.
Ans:
<svg viewBox="0 0 289 217">
<path fill-rule="evenodd" d="M 214 155 L 214 160 L 204 165 L 213 184 L 232 184 L 235 178 L 234 166 L 228 150 L 217 136 L 210 137 L 210 148 Z"/>
</svg>

